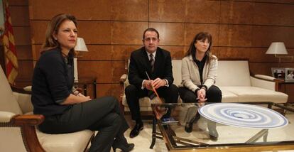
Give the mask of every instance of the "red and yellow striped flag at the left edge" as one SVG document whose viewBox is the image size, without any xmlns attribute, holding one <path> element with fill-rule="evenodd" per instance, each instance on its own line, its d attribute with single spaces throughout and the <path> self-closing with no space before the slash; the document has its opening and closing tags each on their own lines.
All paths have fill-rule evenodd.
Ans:
<svg viewBox="0 0 294 152">
<path fill-rule="evenodd" d="M 4 46 L 6 77 L 10 84 L 14 84 L 14 80 L 18 75 L 18 60 L 16 55 L 16 47 L 13 38 L 13 30 L 11 25 L 11 17 L 9 13 L 9 4 L 7 0 L 3 1 L 5 8 L 5 31 L 2 35 L 2 43 Z"/>
</svg>

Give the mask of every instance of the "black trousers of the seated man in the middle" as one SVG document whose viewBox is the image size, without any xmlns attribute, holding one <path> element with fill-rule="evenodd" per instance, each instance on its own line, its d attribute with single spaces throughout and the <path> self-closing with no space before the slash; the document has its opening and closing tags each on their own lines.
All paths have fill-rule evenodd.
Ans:
<svg viewBox="0 0 294 152">
<path fill-rule="evenodd" d="M 159 97 L 163 97 L 166 103 L 177 103 L 178 102 L 178 87 L 170 85 L 169 87 L 159 87 L 156 89 Z M 141 97 L 148 97 L 148 89 L 141 89 L 135 85 L 129 85 L 125 89 L 126 102 L 128 102 L 129 109 L 131 112 L 131 118 L 133 120 L 141 119 L 140 105 L 138 99 Z"/>
</svg>

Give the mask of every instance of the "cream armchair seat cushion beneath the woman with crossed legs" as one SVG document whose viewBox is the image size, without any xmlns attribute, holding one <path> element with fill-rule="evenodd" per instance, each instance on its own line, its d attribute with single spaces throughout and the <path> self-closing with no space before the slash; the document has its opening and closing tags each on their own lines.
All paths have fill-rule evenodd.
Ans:
<svg viewBox="0 0 294 152">
<path fill-rule="evenodd" d="M 40 144 L 47 152 L 84 151 L 94 131 L 83 130 L 70 134 L 45 134 L 38 129 L 36 133 Z"/>
</svg>

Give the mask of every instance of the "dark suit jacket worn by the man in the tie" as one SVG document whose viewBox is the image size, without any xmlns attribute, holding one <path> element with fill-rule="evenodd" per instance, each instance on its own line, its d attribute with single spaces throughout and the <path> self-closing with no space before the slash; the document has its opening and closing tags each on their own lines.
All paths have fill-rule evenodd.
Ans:
<svg viewBox="0 0 294 152">
<path fill-rule="evenodd" d="M 145 48 L 142 47 L 132 52 L 129 65 L 130 84 L 141 88 L 143 80 L 148 80 L 146 72 L 148 72 L 151 80 L 155 80 L 157 77 L 160 77 L 160 79 L 168 80 L 168 84 L 172 85 L 173 71 L 170 52 L 159 47 L 157 48 L 153 73 L 151 72 L 151 64 Z"/>
</svg>

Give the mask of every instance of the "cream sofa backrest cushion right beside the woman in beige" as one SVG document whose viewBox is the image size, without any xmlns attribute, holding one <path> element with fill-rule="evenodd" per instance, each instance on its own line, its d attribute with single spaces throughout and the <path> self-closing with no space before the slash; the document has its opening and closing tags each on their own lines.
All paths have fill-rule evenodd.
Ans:
<svg viewBox="0 0 294 152">
<path fill-rule="evenodd" d="M 251 86 L 247 60 L 219 60 L 216 85 Z"/>
</svg>

